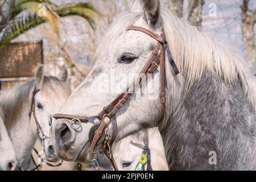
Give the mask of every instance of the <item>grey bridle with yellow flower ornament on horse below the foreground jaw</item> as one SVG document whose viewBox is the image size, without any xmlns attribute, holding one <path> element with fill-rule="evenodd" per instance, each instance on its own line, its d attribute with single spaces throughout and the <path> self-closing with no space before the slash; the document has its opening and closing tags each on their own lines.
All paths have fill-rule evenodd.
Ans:
<svg viewBox="0 0 256 182">
<path fill-rule="evenodd" d="M 152 171 L 150 148 L 148 147 L 148 133 L 145 133 L 144 138 L 143 138 L 143 143 L 144 143 L 144 146 L 131 141 L 131 144 L 133 144 L 135 147 L 139 147 L 143 150 L 142 155 L 140 156 L 139 162 L 137 163 L 134 171 L 136 171 L 136 169 L 139 167 L 139 164 L 142 164 L 142 168 L 141 168 L 142 171 L 145 171 L 146 164 L 147 164 L 147 171 Z"/>
</svg>

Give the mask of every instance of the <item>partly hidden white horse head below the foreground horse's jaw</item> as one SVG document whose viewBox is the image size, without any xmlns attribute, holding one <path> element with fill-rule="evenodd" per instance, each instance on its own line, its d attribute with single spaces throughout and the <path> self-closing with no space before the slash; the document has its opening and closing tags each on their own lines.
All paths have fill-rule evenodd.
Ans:
<svg viewBox="0 0 256 182">
<path fill-rule="evenodd" d="M 147 139 L 150 156 L 145 155 L 145 153 L 147 154 L 148 149 L 143 153 L 143 149 L 140 148 L 146 147 Z M 139 144 L 139 146 L 135 146 L 131 142 L 135 145 Z M 144 169 L 147 169 L 147 166 L 150 165 L 154 171 L 168 170 L 163 140 L 156 127 L 139 131 L 138 133 L 123 138 L 119 142 L 115 142 L 112 146 L 112 152 L 119 170 L 130 171 L 135 168 L 139 170 L 141 169 L 142 164 L 144 165 Z M 142 159 L 144 156 L 146 156 L 146 158 Z"/>
</svg>

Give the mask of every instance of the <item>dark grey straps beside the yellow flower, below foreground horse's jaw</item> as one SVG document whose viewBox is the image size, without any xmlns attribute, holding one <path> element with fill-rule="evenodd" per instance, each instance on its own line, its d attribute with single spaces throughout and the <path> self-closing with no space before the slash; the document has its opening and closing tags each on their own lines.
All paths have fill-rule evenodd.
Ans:
<svg viewBox="0 0 256 182">
<path fill-rule="evenodd" d="M 150 148 L 148 147 L 148 143 L 149 143 L 148 132 L 144 133 L 143 142 L 144 142 L 144 146 L 139 143 L 134 143 L 133 141 L 131 141 L 131 144 L 143 150 L 143 153 L 146 154 L 146 159 L 147 159 L 146 161 L 147 171 L 152 171 Z M 143 171 L 144 171 L 144 165 L 143 165 Z"/>
</svg>

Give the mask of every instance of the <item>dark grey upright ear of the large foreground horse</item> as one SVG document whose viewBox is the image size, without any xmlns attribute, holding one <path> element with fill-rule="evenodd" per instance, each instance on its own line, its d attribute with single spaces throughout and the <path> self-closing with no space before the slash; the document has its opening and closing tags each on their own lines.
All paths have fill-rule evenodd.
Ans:
<svg viewBox="0 0 256 182">
<path fill-rule="evenodd" d="M 141 6 L 144 11 L 144 17 L 146 19 L 147 24 L 152 28 L 161 27 L 162 19 L 160 16 L 160 1 L 141 0 Z"/>
</svg>

